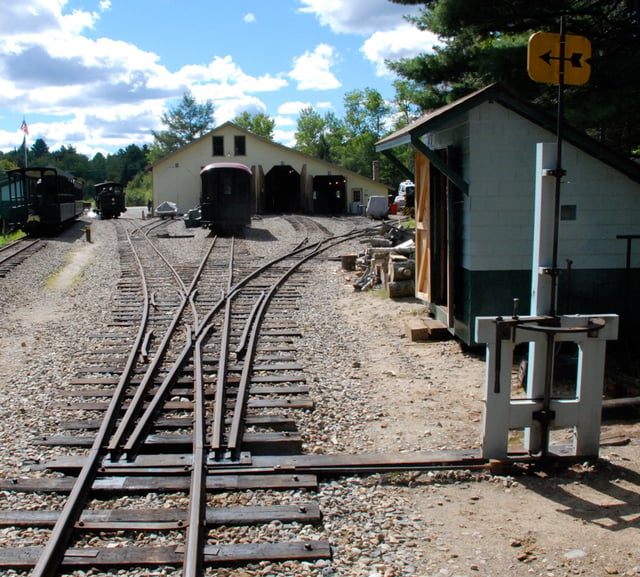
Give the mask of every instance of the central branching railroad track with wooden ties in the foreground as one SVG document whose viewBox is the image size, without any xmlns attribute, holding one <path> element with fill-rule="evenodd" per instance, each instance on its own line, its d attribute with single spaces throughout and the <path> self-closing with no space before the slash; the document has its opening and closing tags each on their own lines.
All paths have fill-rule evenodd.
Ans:
<svg viewBox="0 0 640 577">
<path fill-rule="evenodd" d="M 304 264 L 359 233 L 290 222 L 296 244 L 261 263 L 250 240 L 210 238 L 200 262 L 183 262 L 163 222 L 115 224 L 118 306 L 95 335 L 94 360 L 58 400 L 68 421 L 41 440 L 60 455 L 33 478 L 0 482 L 47 504 L 0 511 L 0 525 L 28 527 L 37 543 L 0 549 L 0 567 L 52 576 L 167 566 L 187 577 L 330 557 L 326 541 L 293 530 L 238 538 L 242 527 L 321 521 L 316 476 L 277 465 L 301 454 L 295 413 L 313 407 L 289 319 Z M 268 496 L 229 505 L 246 490 Z"/>
</svg>

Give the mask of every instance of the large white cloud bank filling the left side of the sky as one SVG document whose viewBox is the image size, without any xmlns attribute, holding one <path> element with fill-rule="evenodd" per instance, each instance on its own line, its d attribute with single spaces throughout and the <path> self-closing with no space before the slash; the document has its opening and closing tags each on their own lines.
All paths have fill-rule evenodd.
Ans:
<svg viewBox="0 0 640 577">
<path fill-rule="evenodd" d="M 284 75 L 247 75 L 231 56 L 169 71 L 153 52 L 84 36 L 82 30 L 91 28 L 99 14 L 63 14 L 66 1 L 12 4 L 10 16 L 20 24 L 0 34 L 0 110 L 26 113 L 28 122 L 29 115 L 53 117 L 29 122 L 30 137 L 44 138 L 51 149 L 73 143 L 92 156 L 105 147 L 149 142 L 151 130 L 162 128 L 167 102 L 187 90 L 198 100 L 212 100 L 216 122 L 225 122 L 244 110 L 266 112 L 252 94 L 288 85 Z M 110 8 L 110 0 L 100 2 L 102 11 Z M 16 134 L 0 133 L 0 149 L 19 142 Z"/>
</svg>

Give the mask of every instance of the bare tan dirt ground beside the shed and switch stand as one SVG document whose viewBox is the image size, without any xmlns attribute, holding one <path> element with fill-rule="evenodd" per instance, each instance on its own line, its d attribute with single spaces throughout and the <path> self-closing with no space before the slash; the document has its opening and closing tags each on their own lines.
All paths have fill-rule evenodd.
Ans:
<svg viewBox="0 0 640 577">
<path fill-rule="evenodd" d="M 405 322 L 422 305 L 344 282 L 344 322 L 369 327 L 358 346 L 361 378 L 383 407 L 369 424 L 375 449 L 479 448 L 483 351 L 412 343 Z M 390 475 L 430 527 L 420 575 L 640 575 L 637 413 L 605 421 L 602 440 L 598 461 L 571 467 Z"/>
</svg>

